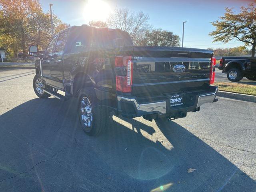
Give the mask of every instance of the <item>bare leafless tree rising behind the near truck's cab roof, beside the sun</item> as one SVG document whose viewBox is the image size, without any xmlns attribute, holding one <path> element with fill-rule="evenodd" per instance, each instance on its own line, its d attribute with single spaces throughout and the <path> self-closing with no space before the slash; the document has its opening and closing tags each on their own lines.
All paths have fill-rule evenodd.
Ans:
<svg viewBox="0 0 256 192">
<path fill-rule="evenodd" d="M 128 32 L 136 45 L 150 28 L 148 20 L 148 14 L 142 11 L 136 13 L 128 8 L 116 7 L 114 12 L 110 14 L 107 22 L 110 28 L 120 28 Z"/>
</svg>

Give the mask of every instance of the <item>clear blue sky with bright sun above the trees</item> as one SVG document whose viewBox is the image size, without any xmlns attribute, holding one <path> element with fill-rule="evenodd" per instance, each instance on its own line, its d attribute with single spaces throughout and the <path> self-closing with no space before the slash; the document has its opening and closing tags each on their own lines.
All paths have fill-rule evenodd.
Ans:
<svg viewBox="0 0 256 192">
<path fill-rule="evenodd" d="M 232 40 L 227 44 L 212 42 L 209 32 L 214 30 L 210 22 L 223 16 L 225 7 L 239 12 L 254 0 L 39 0 L 44 11 L 50 9 L 67 24 L 88 24 L 91 20 L 106 21 L 108 14 L 116 7 L 128 8 L 135 12 L 143 11 L 150 19 L 153 28 L 172 31 L 182 38 L 184 21 L 184 47 L 230 48 L 244 45 Z M 250 47 L 248 47 L 250 48 Z"/>
</svg>

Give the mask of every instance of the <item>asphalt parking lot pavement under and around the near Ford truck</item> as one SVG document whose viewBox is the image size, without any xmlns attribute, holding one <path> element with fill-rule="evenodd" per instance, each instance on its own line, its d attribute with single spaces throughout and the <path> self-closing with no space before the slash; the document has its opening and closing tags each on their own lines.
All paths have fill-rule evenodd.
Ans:
<svg viewBox="0 0 256 192">
<path fill-rule="evenodd" d="M 37 98 L 33 77 L 0 70 L 0 191 L 256 191 L 256 103 L 219 98 L 162 123 L 114 118 L 89 137 L 76 101 Z"/>
</svg>

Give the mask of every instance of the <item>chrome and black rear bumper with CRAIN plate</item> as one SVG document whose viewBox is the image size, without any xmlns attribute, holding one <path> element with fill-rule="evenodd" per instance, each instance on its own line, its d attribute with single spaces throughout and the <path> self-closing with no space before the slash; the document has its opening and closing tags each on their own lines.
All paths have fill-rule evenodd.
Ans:
<svg viewBox="0 0 256 192">
<path fill-rule="evenodd" d="M 146 114 L 160 114 L 164 116 L 175 116 L 181 112 L 190 112 L 199 110 L 199 107 L 204 103 L 212 103 L 218 92 L 217 86 L 210 86 L 208 90 L 198 92 L 184 93 L 184 105 L 170 107 L 170 99 L 164 96 L 165 99 L 156 102 L 140 102 L 136 97 L 118 96 L 118 112 L 124 117 L 134 118 Z M 144 99 L 145 100 L 145 99 Z"/>
</svg>

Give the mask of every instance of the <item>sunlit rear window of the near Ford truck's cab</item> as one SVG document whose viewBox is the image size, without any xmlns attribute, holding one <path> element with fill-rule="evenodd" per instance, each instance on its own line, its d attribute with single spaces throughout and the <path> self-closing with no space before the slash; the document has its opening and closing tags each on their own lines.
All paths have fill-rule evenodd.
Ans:
<svg viewBox="0 0 256 192">
<path fill-rule="evenodd" d="M 70 39 L 71 52 L 80 52 L 87 47 L 114 48 L 133 45 L 128 34 L 111 29 L 75 28 Z"/>
</svg>

